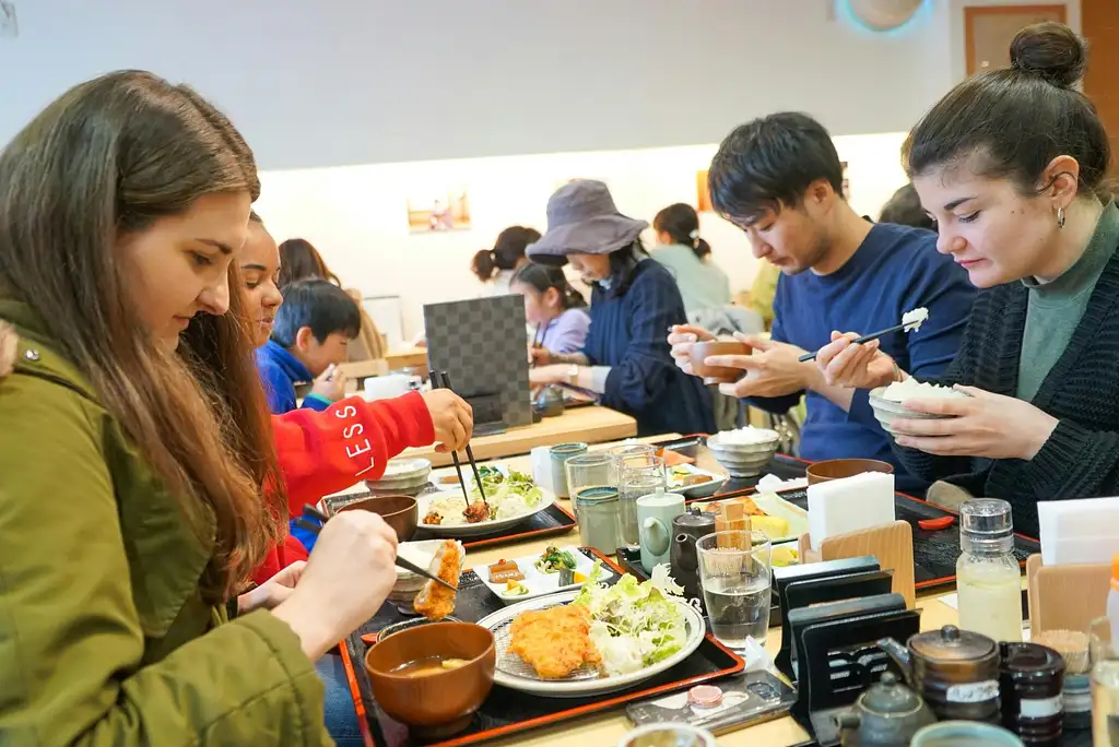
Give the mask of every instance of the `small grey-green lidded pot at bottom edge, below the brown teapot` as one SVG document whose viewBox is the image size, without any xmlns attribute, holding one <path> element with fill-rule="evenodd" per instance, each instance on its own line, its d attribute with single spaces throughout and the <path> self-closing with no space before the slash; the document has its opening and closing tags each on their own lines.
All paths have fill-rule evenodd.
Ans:
<svg viewBox="0 0 1119 747">
<path fill-rule="evenodd" d="M 908 747 L 921 727 L 937 717 L 921 697 L 893 672 L 858 697 L 855 707 L 836 717 L 843 747 Z"/>
</svg>

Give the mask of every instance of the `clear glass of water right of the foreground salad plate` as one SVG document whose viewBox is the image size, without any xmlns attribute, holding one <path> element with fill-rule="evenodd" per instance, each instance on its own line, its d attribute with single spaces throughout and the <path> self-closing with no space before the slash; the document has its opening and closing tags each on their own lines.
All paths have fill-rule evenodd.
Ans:
<svg viewBox="0 0 1119 747">
<path fill-rule="evenodd" d="M 718 531 L 696 542 L 699 584 L 712 633 L 741 651 L 765 643 L 770 611 L 770 541 L 747 529 Z"/>
</svg>

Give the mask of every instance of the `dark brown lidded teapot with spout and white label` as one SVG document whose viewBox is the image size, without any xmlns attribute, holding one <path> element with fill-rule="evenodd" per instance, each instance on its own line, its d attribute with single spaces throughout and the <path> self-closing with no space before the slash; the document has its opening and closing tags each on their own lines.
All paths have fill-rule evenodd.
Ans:
<svg viewBox="0 0 1119 747">
<path fill-rule="evenodd" d="M 902 646 L 893 639 L 878 646 L 905 673 L 940 720 L 999 724 L 998 645 L 986 635 L 955 625 L 918 633 Z"/>
</svg>

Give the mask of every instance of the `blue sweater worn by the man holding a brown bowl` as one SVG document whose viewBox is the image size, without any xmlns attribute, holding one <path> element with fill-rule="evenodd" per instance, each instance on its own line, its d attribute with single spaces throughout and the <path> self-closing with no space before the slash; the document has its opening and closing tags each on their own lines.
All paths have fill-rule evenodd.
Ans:
<svg viewBox="0 0 1119 747">
<path fill-rule="evenodd" d="M 811 271 L 778 281 L 773 301 L 773 339 L 818 350 L 831 331 L 877 332 L 900 323 L 902 314 L 925 306 L 929 321 L 919 331 L 893 332 L 881 339 L 890 354 L 919 381 L 942 374 L 956 357 L 975 300 L 965 270 L 937 252 L 937 235 L 922 228 L 877 224 L 858 250 L 830 275 Z M 801 393 L 754 398 L 763 409 L 783 413 Z M 910 475 L 874 418 L 866 390 L 856 390 L 850 412 L 809 391 L 808 418 L 801 432 L 806 460 L 875 458 L 894 465 L 897 490 L 923 494 L 928 482 Z"/>
</svg>

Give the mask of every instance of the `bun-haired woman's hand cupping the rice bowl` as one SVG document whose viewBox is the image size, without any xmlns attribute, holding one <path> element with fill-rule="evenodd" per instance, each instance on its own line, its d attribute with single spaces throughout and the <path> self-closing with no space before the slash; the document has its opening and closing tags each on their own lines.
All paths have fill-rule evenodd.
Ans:
<svg viewBox="0 0 1119 747">
<path fill-rule="evenodd" d="M 1057 419 L 1027 401 L 957 386 L 970 397 L 910 399 L 905 409 L 957 417 L 918 420 L 897 417 L 890 424 L 899 446 L 942 456 L 1032 460 L 1049 441 Z"/>
</svg>

